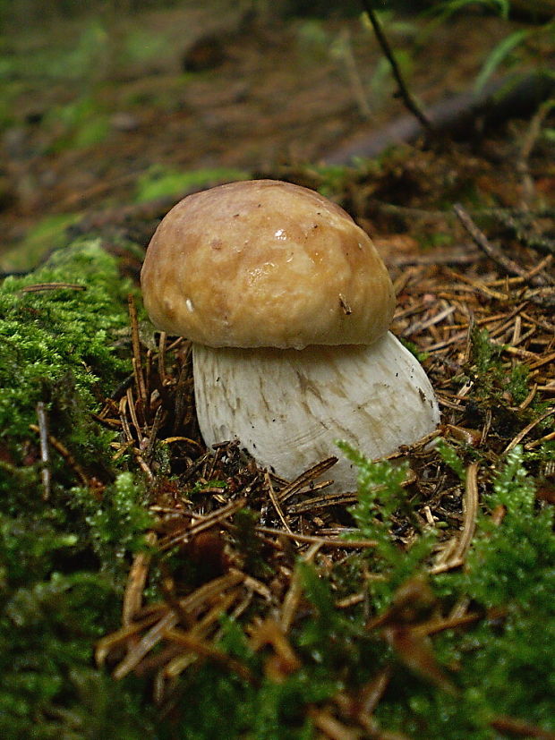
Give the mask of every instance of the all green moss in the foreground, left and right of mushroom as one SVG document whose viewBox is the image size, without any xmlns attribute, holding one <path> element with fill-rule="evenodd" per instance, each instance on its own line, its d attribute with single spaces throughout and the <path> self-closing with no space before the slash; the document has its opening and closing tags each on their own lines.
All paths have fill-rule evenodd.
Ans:
<svg viewBox="0 0 555 740">
<path fill-rule="evenodd" d="M 86 290 L 22 290 L 47 282 Z M 328 560 L 325 568 L 318 557 L 297 563 L 303 598 L 286 639 L 298 668 L 271 680 L 271 648 L 253 652 L 244 632 L 241 620 L 252 615 L 226 617 L 217 648 L 241 661 L 249 677 L 236 675 L 231 664 L 199 660 L 175 682 L 166 722 L 145 701 L 147 685 L 132 676 L 115 682 L 94 667 L 94 643 L 120 624 L 124 580 L 150 525 L 141 480 L 125 470 L 125 458 L 115 467 L 113 436 L 91 416 L 130 372 L 129 289 L 96 242 L 56 253 L 44 268 L 0 287 L 0 736 L 308 740 L 317 736 L 310 709 L 333 706 L 338 693 L 356 697 L 384 670 L 390 680 L 375 711 L 384 732 L 489 740 L 499 715 L 555 729 L 553 516 L 536 500 L 527 470 L 543 468 L 552 445 L 527 455 L 516 447 L 504 461 L 481 464 L 482 511 L 465 567 L 429 576 L 432 603 L 415 610 L 416 620 L 426 619 L 431 610 L 446 616 L 454 604 L 467 603 L 476 616 L 465 629 L 431 638 L 433 659 L 455 693 L 420 675 L 418 660 L 411 665 L 383 628 L 368 626 L 376 616 L 390 625 L 396 595 L 427 574 L 437 540 L 433 532 L 418 533 L 402 485 L 405 466 L 371 463 L 345 445 L 360 472 L 358 501 L 349 510 L 352 536 L 376 546 L 335 565 Z M 497 394 L 499 356 L 486 340 L 476 340 L 473 371 L 485 374 L 482 387 Z M 511 393 L 522 396 L 526 373 L 513 381 Z M 44 500 L 38 440 L 30 430 L 38 401 L 50 431 L 102 482 L 98 490 L 76 487 L 72 467 L 51 448 L 52 485 Z M 440 447 L 438 465 L 464 480 L 454 448 Z M 504 512 L 500 523 L 492 521 L 493 510 Z M 414 524 L 411 547 L 392 536 L 400 518 Z M 271 579 L 274 561 L 256 521 L 246 509 L 235 515 L 231 545 L 249 574 Z M 362 601 L 337 608 L 338 599 L 357 594 Z"/>
</svg>

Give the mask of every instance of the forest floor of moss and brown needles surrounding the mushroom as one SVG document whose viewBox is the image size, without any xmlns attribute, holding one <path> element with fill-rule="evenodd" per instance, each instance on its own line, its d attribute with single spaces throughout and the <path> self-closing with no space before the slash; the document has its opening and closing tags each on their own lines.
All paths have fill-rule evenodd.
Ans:
<svg viewBox="0 0 555 740">
<path fill-rule="evenodd" d="M 553 738 L 552 104 L 353 157 L 407 115 L 371 31 L 229 7 L 2 40 L 0 734 Z M 428 22 L 384 16 L 425 108 L 533 28 Z M 141 309 L 160 218 L 250 176 L 369 231 L 438 396 L 357 492 L 207 449 Z"/>
</svg>

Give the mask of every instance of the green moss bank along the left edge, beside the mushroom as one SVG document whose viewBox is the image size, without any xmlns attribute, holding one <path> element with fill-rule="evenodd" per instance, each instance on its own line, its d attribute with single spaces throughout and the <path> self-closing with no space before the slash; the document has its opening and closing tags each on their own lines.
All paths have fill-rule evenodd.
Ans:
<svg viewBox="0 0 555 740">
<path fill-rule="evenodd" d="M 85 289 L 24 291 L 55 282 Z M 118 624 L 130 553 L 149 524 L 141 485 L 110 469 L 113 435 L 91 418 L 130 370 L 116 351 L 128 289 L 98 242 L 57 252 L 0 287 L 0 736 L 8 740 L 154 736 L 141 686 L 116 684 L 92 655 Z M 74 489 L 71 467 L 51 447 L 44 500 L 30 430 L 38 401 L 78 463 L 114 483 L 96 495 Z"/>
</svg>

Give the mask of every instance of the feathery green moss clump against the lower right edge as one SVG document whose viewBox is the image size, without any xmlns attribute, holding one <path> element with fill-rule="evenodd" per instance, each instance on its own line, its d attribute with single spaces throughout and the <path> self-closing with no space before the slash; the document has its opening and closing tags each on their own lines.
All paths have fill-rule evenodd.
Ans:
<svg viewBox="0 0 555 740">
<path fill-rule="evenodd" d="M 485 503 L 488 509 L 479 515 L 465 571 L 438 576 L 435 587 L 451 599 L 470 598 L 474 611 L 496 611 L 465 634 L 441 635 L 436 644 L 442 659 L 457 666 L 462 701 L 484 730 L 499 714 L 552 730 L 553 510 L 535 501 L 534 482 L 525 471 L 521 448 L 508 454 L 494 476 Z M 500 524 L 494 524 L 490 511 L 499 506 L 503 506 L 505 516 Z M 458 722 L 461 713 L 460 707 L 451 706 L 445 697 L 443 704 L 441 711 L 434 710 L 438 727 L 440 716 L 454 722 L 457 718 Z M 431 711 L 430 706 L 427 711 Z M 439 733 L 439 729 L 434 732 Z M 455 733 L 453 729 L 445 736 L 463 736 L 460 731 L 459 735 Z"/>
</svg>

